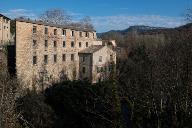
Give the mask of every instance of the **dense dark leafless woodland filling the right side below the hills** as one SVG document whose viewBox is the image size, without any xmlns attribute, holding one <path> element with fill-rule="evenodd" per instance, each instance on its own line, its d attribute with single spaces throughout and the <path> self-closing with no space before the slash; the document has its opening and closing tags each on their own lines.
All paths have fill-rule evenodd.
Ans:
<svg viewBox="0 0 192 128">
<path fill-rule="evenodd" d="M 132 127 L 192 127 L 192 32 L 175 31 L 165 40 L 141 42 L 120 61 L 119 94 Z"/>
</svg>

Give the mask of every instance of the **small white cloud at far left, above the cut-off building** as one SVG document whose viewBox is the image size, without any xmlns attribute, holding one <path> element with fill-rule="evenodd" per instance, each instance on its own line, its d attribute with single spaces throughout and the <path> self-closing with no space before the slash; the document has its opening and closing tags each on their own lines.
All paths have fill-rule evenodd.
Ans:
<svg viewBox="0 0 192 128">
<path fill-rule="evenodd" d="M 4 15 L 10 18 L 18 18 L 18 17 L 28 17 L 31 19 L 35 19 L 37 16 L 31 10 L 26 9 L 11 9 L 7 12 L 3 13 Z"/>
</svg>

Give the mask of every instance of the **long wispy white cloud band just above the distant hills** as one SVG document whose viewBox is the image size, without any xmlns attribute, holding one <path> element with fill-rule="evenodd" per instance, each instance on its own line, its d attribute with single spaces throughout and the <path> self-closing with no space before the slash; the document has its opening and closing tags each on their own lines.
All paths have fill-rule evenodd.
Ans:
<svg viewBox="0 0 192 128">
<path fill-rule="evenodd" d="M 168 17 L 159 15 L 141 16 L 96 16 L 92 17 L 93 24 L 98 32 L 126 29 L 133 25 L 147 25 L 154 27 L 177 27 L 185 22 L 182 17 Z"/>
</svg>

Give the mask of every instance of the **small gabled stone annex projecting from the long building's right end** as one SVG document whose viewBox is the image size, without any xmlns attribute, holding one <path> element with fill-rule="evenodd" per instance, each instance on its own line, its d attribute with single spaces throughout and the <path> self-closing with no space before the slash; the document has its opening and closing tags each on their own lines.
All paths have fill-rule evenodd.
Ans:
<svg viewBox="0 0 192 128">
<path fill-rule="evenodd" d="M 107 45 L 92 45 L 79 52 L 79 78 L 92 83 L 110 78 L 116 53 Z"/>
</svg>

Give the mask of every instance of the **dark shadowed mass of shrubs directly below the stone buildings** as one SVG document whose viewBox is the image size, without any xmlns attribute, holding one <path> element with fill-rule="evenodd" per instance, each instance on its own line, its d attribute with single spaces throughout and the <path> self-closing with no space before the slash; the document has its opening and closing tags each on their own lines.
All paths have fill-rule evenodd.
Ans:
<svg viewBox="0 0 192 128">
<path fill-rule="evenodd" d="M 121 127 L 120 102 L 114 82 L 90 85 L 66 81 L 19 98 L 17 110 L 35 128 Z M 23 126 L 26 122 L 20 121 Z"/>
</svg>

